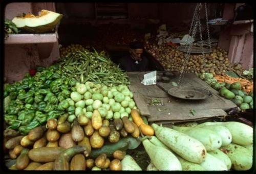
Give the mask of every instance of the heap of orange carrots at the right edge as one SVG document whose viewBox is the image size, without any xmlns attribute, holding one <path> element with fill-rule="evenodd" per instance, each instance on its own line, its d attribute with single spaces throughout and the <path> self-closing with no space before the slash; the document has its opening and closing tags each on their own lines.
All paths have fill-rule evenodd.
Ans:
<svg viewBox="0 0 256 174">
<path fill-rule="evenodd" d="M 247 92 L 247 93 L 253 90 L 253 82 L 250 82 L 250 81 L 248 81 L 246 79 L 243 79 L 243 78 L 232 78 L 232 77 L 227 76 L 227 75 L 225 75 L 225 76 L 215 75 L 214 78 L 219 83 L 225 82 L 225 83 L 232 84 L 234 82 L 239 82 L 241 84 L 242 90 Z"/>
</svg>

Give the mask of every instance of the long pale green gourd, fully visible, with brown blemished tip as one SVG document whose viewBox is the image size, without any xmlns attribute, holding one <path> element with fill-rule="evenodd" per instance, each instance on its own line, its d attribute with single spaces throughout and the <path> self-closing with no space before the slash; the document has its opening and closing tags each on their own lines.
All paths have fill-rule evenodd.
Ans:
<svg viewBox="0 0 256 174">
<path fill-rule="evenodd" d="M 156 137 L 185 160 L 193 163 L 204 161 L 206 149 L 200 141 L 173 129 L 160 127 L 155 123 L 152 127 Z"/>
</svg>

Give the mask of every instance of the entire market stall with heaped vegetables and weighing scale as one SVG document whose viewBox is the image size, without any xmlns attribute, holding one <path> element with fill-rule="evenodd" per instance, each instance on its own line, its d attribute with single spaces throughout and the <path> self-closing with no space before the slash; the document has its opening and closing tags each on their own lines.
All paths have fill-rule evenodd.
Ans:
<svg viewBox="0 0 256 174">
<path fill-rule="evenodd" d="M 253 68 L 214 45 L 207 6 L 222 7 L 187 4 L 175 20 L 171 3 L 9 5 L 6 170 L 250 170 Z M 134 40 L 148 71 L 118 65 Z"/>
</svg>

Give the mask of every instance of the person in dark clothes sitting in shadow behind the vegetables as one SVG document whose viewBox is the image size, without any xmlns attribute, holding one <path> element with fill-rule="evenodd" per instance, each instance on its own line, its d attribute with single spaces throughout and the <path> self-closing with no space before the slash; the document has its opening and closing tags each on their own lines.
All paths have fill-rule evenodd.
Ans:
<svg viewBox="0 0 256 174">
<path fill-rule="evenodd" d="M 147 71 L 148 60 L 143 56 L 143 43 L 135 41 L 130 43 L 130 55 L 119 60 L 120 68 L 126 71 Z"/>
</svg>

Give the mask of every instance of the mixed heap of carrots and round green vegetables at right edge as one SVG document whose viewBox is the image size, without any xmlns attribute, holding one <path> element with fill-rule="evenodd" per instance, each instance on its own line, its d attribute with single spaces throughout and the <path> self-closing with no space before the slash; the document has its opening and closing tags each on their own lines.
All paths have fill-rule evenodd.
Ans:
<svg viewBox="0 0 256 174">
<path fill-rule="evenodd" d="M 235 103 L 241 110 L 253 109 L 253 82 L 242 78 L 217 76 L 212 73 L 197 74 L 220 95 Z"/>
</svg>

